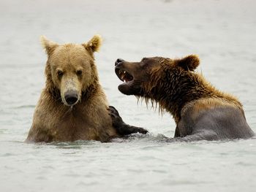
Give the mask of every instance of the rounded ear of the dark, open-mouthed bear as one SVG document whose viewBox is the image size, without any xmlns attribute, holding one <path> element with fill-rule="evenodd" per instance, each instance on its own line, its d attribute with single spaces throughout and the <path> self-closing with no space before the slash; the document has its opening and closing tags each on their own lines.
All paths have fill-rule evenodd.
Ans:
<svg viewBox="0 0 256 192">
<path fill-rule="evenodd" d="M 181 66 L 186 71 L 194 71 L 199 64 L 200 60 L 197 55 L 188 55 L 178 60 L 178 66 Z"/>
</svg>

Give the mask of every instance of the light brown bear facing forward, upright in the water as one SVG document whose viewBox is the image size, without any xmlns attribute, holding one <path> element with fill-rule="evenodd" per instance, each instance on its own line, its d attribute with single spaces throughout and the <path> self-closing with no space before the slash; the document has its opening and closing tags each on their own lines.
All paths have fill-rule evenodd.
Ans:
<svg viewBox="0 0 256 192">
<path fill-rule="evenodd" d="M 108 101 L 99 84 L 94 52 L 101 38 L 95 35 L 81 45 L 58 45 L 41 37 L 48 55 L 46 85 L 34 112 L 27 142 L 72 142 L 78 139 L 108 142 L 113 137 L 142 128 L 116 131 L 108 112 Z"/>
</svg>

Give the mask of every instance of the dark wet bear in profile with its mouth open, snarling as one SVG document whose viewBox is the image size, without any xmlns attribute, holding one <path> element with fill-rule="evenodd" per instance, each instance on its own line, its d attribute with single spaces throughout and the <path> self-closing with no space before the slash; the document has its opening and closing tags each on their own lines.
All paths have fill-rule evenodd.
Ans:
<svg viewBox="0 0 256 192">
<path fill-rule="evenodd" d="M 174 138 L 168 141 L 246 139 L 255 134 L 246 123 L 242 104 L 234 96 L 222 93 L 194 72 L 197 55 L 181 59 L 143 58 L 140 62 L 116 61 L 116 74 L 124 83 L 121 93 L 143 97 L 159 104 L 176 122 Z M 125 128 L 111 107 L 113 125 Z"/>
</svg>

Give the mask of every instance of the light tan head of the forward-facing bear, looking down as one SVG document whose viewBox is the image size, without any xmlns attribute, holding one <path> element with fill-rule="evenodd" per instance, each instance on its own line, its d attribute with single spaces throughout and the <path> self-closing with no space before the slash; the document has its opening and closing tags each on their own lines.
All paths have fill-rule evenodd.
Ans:
<svg viewBox="0 0 256 192">
<path fill-rule="evenodd" d="M 59 45 L 43 36 L 40 40 L 48 55 L 46 89 L 67 106 L 77 104 L 83 93 L 98 83 L 94 52 L 99 50 L 101 37 L 95 35 L 80 45 Z"/>
</svg>

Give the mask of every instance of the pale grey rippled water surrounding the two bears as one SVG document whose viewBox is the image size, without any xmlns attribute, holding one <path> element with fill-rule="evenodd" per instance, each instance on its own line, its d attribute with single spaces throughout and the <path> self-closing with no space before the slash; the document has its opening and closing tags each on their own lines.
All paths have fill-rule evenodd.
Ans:
<svg viewBox="0 0 256 192">
<path fill-rule="evenodd" d="M 238 96 L 256 132 L 256 3 L 203 0 L 0 2 L 1 191 L 255 191 L 256 140 L 160 142 L 173 137 L 170 115 L 124 96 L 116 58 L 179 58 L 195 53 L 217 88 Z M 125 122 L 148 128 L 112 143 L 26 144 L 44 86 L 44 34 L 86 42 L 102 34 L 100 81 Z"/>
</svg>

